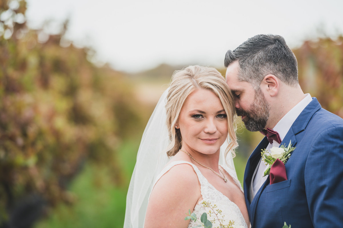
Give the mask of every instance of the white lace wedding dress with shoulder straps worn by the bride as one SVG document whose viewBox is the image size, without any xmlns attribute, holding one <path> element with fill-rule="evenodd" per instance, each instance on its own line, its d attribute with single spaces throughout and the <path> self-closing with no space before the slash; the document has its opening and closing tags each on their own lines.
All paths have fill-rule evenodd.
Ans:
<svg viewBox="0 0 343 228">
<path fill-rule="evenodd" d="M 210 210 L 213 212 L 212 209 L 210 209 L 209 207 L 205 207 L 202 202 L 206 201 L 208 203 L 211 203 L 211 205 L 216 205 L 216 209 L 221 210 L 222 213 L 221 215 L 219 215 L 218 217 L 220 219 L 223 218 L 223 223 L 222 225 L 228 225 L 229 221 L 233 221 L 234 228 L 247 228 L 247 224 L 244 220 L 244 217 L 242 215 L 242 213 L 240 212 L 238 206 L 233 203 L 232 201 L 229 200 L 229 198 L 227 198 L 226 196 L 223 195 L 223 193 L 221 193 L 220 191 L 218 191 L 217 189 L 215 189 L 209 182 L 208 180 L 201 174 L 200 170 L 198 169 L 198 167 L 190 162 L 187 161 L 174 161 L 171 162 L 170 164 L 168 164 L 163 170 L 162 172 L 158 175 L 157 180 L 159 180 L 159 178 L 161 178 L 168 170 L 171 169 L 171 167 L 178 165 L 178 164 L 190 164 L 194 171 L 196 172 L 198 179 L 199 179 L 199 183 L 200 183 L 200 189 L 201 189 L 201 196 L 202 196 L 202 200 L 194 207 L 194 213 L 196 213 L 198 219 L 200 219 L 200 216 L 206 212 L 208 217 L 207 219 L 210 220 L 212 222 L 212 227 L 220 227 L 219 221 L 216 218 L 216 216 L 214 214 L 210 215 Z M 236 179 L 235 175 L 234 175 L 234 170 L 228 170 L 225 169 L 225 171 L 230 174 L 230 176 L 232 176 L 232 178 L 234 179 L 235 183 L 237 184 L 237 186 L 241 189 L 241 191 L 243 192 L 243 189 L 239 183 L 239 181 Z M 156 180 L 156 182 L 157 182 Z M 186 213 L 186 212 L 185 212 Z M 186 215 L 185 215 L 186 217 Z M 198 225 L 197 223 L 194 223 L 194 221 L 190 221 L 188 228 L 191 228 L 193 226 Z"/>
</svg>

